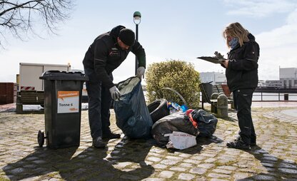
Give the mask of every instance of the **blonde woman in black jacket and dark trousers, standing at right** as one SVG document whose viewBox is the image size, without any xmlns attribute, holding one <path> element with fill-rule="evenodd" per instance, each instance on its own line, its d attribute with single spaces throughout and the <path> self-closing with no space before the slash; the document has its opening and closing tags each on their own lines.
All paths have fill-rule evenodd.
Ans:
<svg viewBox="0 0 297 181">
<path fill-rule="evenodd" d="M 253 91 L 258 85 L 259 46 L 255 37 L 239 23 L 226 26 L 223 37 L 230 51 L 228 60 L 221 63 L 226 68 L 229 89 L 237 110 L 240 131 L 238 138 L 228 142 L 229 148 L 249 149 L 256 145 L 256 133 L 251 118 Z"/>
</svg>

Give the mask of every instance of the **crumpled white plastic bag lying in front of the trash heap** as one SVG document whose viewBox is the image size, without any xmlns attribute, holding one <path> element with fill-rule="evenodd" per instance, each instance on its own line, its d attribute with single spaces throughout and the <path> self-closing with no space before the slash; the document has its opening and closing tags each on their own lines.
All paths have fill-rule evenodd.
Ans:
<svg viewBox="0 0 297 181">
<path fill-rule="evenodd" d="M 173 133 L 164 136 L 169 136 L 166 148 L 183 150 L 197 145 L 196 136 L 189 135 L 188 133 L 173 131 Z"/>
</svg>

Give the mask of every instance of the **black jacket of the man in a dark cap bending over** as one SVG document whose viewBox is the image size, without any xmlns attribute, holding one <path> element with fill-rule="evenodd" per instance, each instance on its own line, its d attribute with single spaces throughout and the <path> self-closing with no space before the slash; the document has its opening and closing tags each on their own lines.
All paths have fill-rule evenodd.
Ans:
<svg viewBox="0 0 297 181">
<path fill-rule="evenodd" d="M 117 38 L 124 26 L 116 26 L 107 33 L 99 35 L 89 46 L 84 57 L 84 69 L 91 82 L 99 82 L 106 88 L 114 86 L 110 74 L 118 68 L 131 51 L 137 56 L 139 66 L 146 67 L 146 53 L 138 41 L 128 50 L 122 50 Z"/>
</svg>

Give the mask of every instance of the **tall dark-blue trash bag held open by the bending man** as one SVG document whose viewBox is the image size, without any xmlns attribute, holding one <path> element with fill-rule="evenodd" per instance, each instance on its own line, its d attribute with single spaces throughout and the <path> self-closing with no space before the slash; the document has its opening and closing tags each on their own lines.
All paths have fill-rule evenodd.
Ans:
<svg viewBox="0 0 297 181">
<path fill-rule="evenodd" d="M 114 100 L 116 125 L 129 138 L 151 138 L 153 121 L 146 106 L 141 80 L 131 77 L 118 84 L 121 98 Z"/>
</svg>

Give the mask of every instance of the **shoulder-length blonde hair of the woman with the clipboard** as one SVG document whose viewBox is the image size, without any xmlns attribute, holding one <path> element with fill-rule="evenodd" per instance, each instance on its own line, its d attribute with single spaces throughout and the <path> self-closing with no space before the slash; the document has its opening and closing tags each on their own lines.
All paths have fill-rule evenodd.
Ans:
<svg viewBox="0 0 297 181">
<path fill-rule="evenodd" d="M 227 38 L 228 36 L 238 38 L 239 45 L 243 46 L 243 42 L 249 41 L 248 33 L 249 33 L 248 30 L 244 29 L 241 24 L 236 22 L 236 23 L 228 24 L 228 26 L 226 26 L 225 30 L 223 31 L 223 38 L 226 39 L 226 44 L 229 48 L 230 46 Z"/>
</svg>

